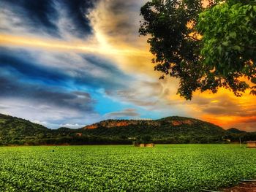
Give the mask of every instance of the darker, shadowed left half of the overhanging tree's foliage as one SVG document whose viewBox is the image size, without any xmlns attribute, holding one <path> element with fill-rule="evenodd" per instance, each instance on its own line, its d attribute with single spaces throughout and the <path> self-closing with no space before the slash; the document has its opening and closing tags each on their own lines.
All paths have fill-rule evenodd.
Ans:
<svg viewBox="0 0 256 192">
<path fill-rule="evenodd" d="M 187 24 L 197 23 L 197 15 L 203 9 L 201 1 L 154 0 L 140 9 L 143 22 L 141 35 L 150 35 L 148 43 L 155 55 L 155 70 L 162 72 L 160 78 L 170 74 L 179 78 L 178 93 L 186 99 L 192 98 L 192 92 L 199 86 L 203 76 L 200 66 L 198 39 L 192 35 L 195 29 Z"/>
</svg>

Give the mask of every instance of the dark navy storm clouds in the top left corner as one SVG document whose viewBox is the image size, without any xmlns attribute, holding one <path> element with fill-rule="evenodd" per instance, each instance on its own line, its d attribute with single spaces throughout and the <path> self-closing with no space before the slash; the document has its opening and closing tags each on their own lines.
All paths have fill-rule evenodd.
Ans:
<svg viewBox="0 0 256 192">
<path fill-rule="evenodd" d="M 9 26 L 2 26 L 0 30 L 13 32 L 18 28 L 26 28 L 31 34 L 61 38 L 63 34 L 60 28 L 65 28 L 67 31 L 64 33 L 83 38 L 91 34 L 86 14 L 94 3 L 89 0 L 1 0 L 2 14 L 8 19 Z M 66 14 L 61 15 L 61 11 Z M 60 24 L 61 18 L 65 18 L 66 22 Z"/>
</svg>

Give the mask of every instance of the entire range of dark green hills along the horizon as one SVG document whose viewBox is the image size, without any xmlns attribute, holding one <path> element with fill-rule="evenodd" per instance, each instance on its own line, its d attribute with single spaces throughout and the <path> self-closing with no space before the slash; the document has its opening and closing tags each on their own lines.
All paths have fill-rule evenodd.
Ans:
<svg viewBox="0 0 256 192">
<path fill-rule="evenodd" d="M 0 145 L 132 144 L 138 138 L 155 143 L 216 143 L 256 140 L 255 133 L 223 128 L 203 120 L 167 117 L 159 120 L 103 120 L 83 128 L 50 129 L 29 120 L 0 114 Z"/>
</svg>

